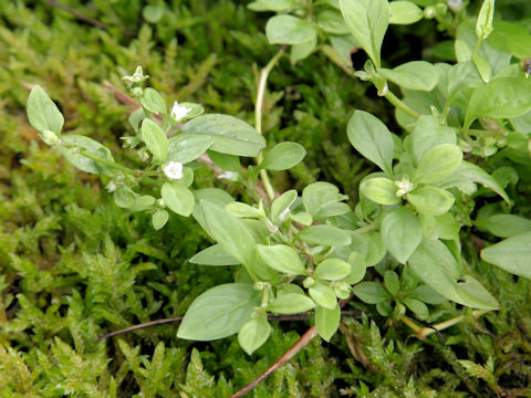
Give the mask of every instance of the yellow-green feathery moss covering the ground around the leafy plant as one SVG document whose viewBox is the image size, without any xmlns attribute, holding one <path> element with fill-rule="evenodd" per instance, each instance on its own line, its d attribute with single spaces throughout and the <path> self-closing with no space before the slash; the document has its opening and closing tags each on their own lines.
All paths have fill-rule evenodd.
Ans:
<svg viewBox="0 0 531 398">
<path fill-rule="evenodd" d="M 529 8 L 500 3 L 507 18 Z M 208 245 L 191 219 L 174 214 L 164 230 L 154 231 L 146 214 L 117 208 L 98 178 L 76 171 L 35 139 L 24 105 L 29 88 L 42 85 L 64 114 L 65 130 L 105 143 L 132 164 L 134 154 L 118 139 L 127 106 L 103 82 L 126 93 L 121 76 L 138 64 L 167 97 L 251 123 L 253 65 L 264 65 L 275 51 L 262 33 L 267 18 L 243 1 L 173 1 L 173 12 L 162 17 L 146 8 L 155 2 L 61 2 L 104 24 L 94 27 L 54 4 L 0 3 L 0 394 L 229 397 L 289 349 L 309 323 L 273 323 L 270 342 L 252 356 L 236 337 L 177 339 L 175 325 L 94 342 L 113 329 L 180 316 L 231 273 L 187 261 Z M 426 32 L 435 32 L 424 23 Z M 392 33 L 396 43 L 409 38 L 421 48 L 439 40 L 434 32 Z M 406 49 L 387 49 L 388 59 L 407 60 Z M 371 168 L 350 148 L 350 109 L 394 123 L 391 108 L 367 87 L 323 55 L 295 66 L 282 60 L 266 97 L 266 137 L 300 143 L 309 156 L 304 165 L 274 175 L 279 190 L 321 178 L 337 182 L 355 201 Z M 196 184 L 217 181 L 204 168 Z M 529 182 L 513 189 L 529 216 Z M 250 395 L 530 396 L 530 283 L 480 262 L 481 242 L 471 231 L 461 237 L 467 266 L 502 303 L 500 311 L 477 321 L 471 312 L 442 307 L 437 316 L 465 321 L 419 342 L 373 306 L 352 303 L 363 316 L 344 320 L 330 344 L 313 341 Z"/>
</svg>

